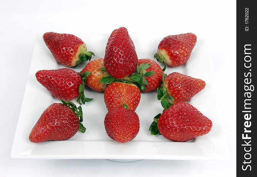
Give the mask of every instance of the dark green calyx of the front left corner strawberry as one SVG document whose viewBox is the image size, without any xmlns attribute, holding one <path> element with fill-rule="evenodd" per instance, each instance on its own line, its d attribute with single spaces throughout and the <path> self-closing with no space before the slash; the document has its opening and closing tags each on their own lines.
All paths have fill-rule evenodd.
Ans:
<svg viewBox="0 0 257 177">
<path fill-rule="evenodd" d="M 84 133 L 86 131 L 86 127 L 84 127 L 84 125 L 81 123 L 81 122 L 83 122 L 82 107 L 79 106 L 77 108 L 76 104 L 72 103 L 71 101 L 64 101 L 64 99 L 61 99 L 61 102 L 64 105 L 68 106 L 74 112 L 74 114 L 78 117 L 78 119 L 79 119 L 79 131 Z"/>
</svg>

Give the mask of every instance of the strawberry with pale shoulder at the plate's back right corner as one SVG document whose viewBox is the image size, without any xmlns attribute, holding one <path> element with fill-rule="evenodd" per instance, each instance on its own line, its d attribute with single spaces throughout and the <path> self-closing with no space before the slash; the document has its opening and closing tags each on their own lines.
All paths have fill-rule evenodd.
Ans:
<svg viewBox="0 0 257 177">
<path fill-rule="evenodd" d="M 181 66 L 187 62 L 195 45 L 196 35 L 193 33 L 170 35 L 161 40 L 154 58 L 165 65 L 164 71 L 167 65 Z"/>
</svg>

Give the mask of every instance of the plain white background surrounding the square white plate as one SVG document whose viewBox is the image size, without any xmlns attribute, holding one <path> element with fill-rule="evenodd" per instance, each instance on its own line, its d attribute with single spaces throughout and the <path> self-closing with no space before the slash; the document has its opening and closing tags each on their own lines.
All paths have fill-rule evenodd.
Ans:
<svg viewBox="0 0 257 177">
<path fill-rule="evenodd" d="M 37 33 L 205 36 L 230 151 L 228 161 L 14 160 L 14 132 Z M 1 176 L 235 176 L 236 1 L 0 1 Z M 32 108 L 28 108 L 32 109 Z M 215 112 L 214 112 L 215 114 Z"/>
</svg>

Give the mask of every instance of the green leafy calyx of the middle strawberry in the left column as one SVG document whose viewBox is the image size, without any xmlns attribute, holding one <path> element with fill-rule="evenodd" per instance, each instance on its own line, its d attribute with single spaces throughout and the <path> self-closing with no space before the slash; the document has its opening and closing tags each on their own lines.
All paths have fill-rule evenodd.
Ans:
<svg viewBox="0 0 257 177">
<path fill-rule="evenodd" d="M 83 74 L 79 73 L 79 76 L 82 78 L 82 84 L 79 85 L 79 96 L 78 96 L 78 103 L 79 104 L 85 104 L 88 101 L 92 101 L 92 98 L 86 98 L 84 94 L 84 88 L 85 88 L 85 81 L 87 80 L 87 77 L 91 74 L 89 71 L 85 71 Z"/>
</svg>

